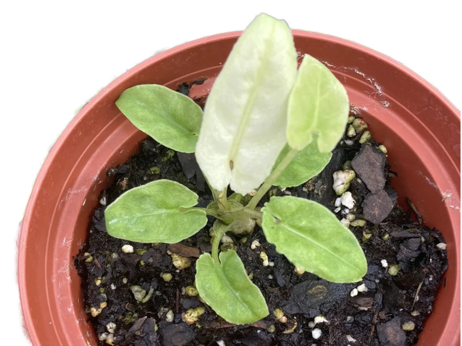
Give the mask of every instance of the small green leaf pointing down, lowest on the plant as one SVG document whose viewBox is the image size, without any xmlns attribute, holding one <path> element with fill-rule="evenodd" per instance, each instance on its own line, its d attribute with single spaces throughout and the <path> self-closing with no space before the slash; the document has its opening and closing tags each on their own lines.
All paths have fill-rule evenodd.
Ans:
<svg viewBox="0 0 462 346">
<path fill-rule="evenodd" d="M 234 324 L 253 323 L 267 316 L 266 302 L 236 252 L 220 253 L 220 262 L 217 267 L 209 254 L 196 261 L 196 287 L 204 302 Z"/>
</svg>

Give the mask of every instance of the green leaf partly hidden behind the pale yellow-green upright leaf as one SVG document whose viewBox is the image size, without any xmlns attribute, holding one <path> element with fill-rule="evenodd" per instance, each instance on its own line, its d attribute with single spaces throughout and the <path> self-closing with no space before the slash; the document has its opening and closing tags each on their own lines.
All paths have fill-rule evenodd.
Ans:
<svg viewBox="0 0 462 346">
<path fill-rule="evenodd" d="M 273 171 L 290 151 L 286 144 L 274 164 Z M 281 187 L 298 186 L 319 174 L 329 163 L 332 153 L 320 153 L 316 142 L 309 143 L 304 149 L 297 153 L 297 156 L 290 162 L 284 172 L 276 179 L 273 185 Z"/>
</svg>

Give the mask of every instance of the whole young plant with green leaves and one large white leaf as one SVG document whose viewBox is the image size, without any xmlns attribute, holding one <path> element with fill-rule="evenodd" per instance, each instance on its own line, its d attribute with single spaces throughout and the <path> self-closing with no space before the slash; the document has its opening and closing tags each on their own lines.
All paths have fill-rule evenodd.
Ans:
<svg viewBox="0 0 462 346">
<path fill-rule="evenodd" d="M 212 251 L 196 261 L 195 283 L 205 303 L 235 324 L 255 322 L 268 308 L 236 251 L 219 252 L 226 232 L 251 233 L 259 223 L 277 252 L 332 282 L 359 281 L 367 269 L 355 236 L 324 206 L 285 196 L 258 207 L 273 185 L 298 186 L 320 173 L 348 121 L 346 90 L 329 69 L 308 54 L 297 66 L 287 23 L 260 14 L 235 43 L 204 112 L 160 85 L 131 87 L 116 101 L 162 145 L 195 153 L 214 201 L 195 207 L 196 193 L 156 180 L 106 208 L 107 232 L 135 242 L 177 243 L 201 230 L 207 216 L 215 217 Z M 252 198 L 243 203 L 248 194 Z"/>
</svg>

